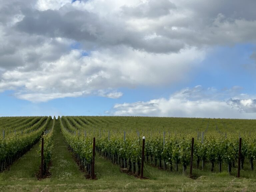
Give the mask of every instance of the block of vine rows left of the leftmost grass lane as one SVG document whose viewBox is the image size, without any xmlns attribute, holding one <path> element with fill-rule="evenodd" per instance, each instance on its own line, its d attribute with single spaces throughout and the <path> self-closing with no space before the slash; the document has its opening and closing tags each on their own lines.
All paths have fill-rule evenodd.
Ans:
<svg viewBox="0 0 256 192">
<path fill-rule="evenodd" d="M 50 119 L 51 117 L 14 118 L 12 122 L 9 118 L 3 118 L 0 144 L 1 171 L 8 168 L 40 139 Z"/>
</svg>

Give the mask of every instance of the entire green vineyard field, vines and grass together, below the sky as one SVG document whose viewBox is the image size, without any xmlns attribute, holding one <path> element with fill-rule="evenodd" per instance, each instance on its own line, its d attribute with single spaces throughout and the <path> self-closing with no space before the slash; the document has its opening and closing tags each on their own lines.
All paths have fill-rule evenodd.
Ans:
<svg viewBox="0 0 256 192">
<path fill-rule="evenodd" d="M 0 138 L 1 164 L 10 159 L 11 155 L 17 159 L 0 173 L 0 191 L 256 191 L 256 173 L 255 170 L 251 170 L 250 163 L 251 160 L 255 160 L 255 120 L 62 117 L 61 120 L 58 118 L 54 123 L 53 121 L 47 117 L 0 118 L 1 132 L 5 131 L 5 138 L 2 134 Z M 40 175 L 41 130 L 49 130 L 44 136 L 50 143 L 46 145 L 49 147 L 46 148 L 48 152 L 44 155 L 45 159 L 47 156 L 50 159 L 50 163 L 46 165 L 50 174 L 45 179 L 37 178 Z M 237 178 L 236 152 L 239 135 L 243 141 L 242 151 L 245 157 L 241 177 Z M 141 157 L 142 136 L 146 137 L 145 154 L 148 158 L 146 155 L 145 158 L 148 160 L 144 164 L 144 176 L 147 179 L 135 176 Z M 86 170 L 86 167 L 83 167 L 86 165 L 83 160 L 91 160 L 93 137 L 96 138 L 97 149 L 96 180 L 86 178 L 85 175 L 88 173 L 81 171 L 83 168 Z M 187 158 L 190 159 L 192 137 L 195 138 L 193 179 L 189 177 L 189 164 L 183 172 L 184 163 L 187 163 Z M 21 142 L 25 141 L 28 144 L 24 144 L 23 148 L 14 146 L 23 146 Z M 8 143 L 13 147 L 8 148 Z M 187 145 L 186 148 L 183 148 L 184 143 Z M 218 145 L 219 143 L 227 145 Z M 229 148 L 225 148 L 227 146 Z M 19 149 L 22 149 L 23 153 L 15 154 Z M 196 153 L 199 149 L 202 151 Z M 205 149 L 207 155 L 203 168 L 201 157 L 204 157 Z M 218 157 L 219 151 L 223 151 L 221 172 L 218 160 L 214 159 Z M 9 155 L 6 155 L 7 153 Z M 166 159 L 170 155 L 172 171 L 170 159 Z M 197 167 L 198 155 L 202 156 Z M 230 163 L 235 165 L 232 165 L 230 174 L 229 161 L 225 155 L 229 155 Z M 250 159 L 251 157 L 253 159 Z M 175 158 L 178 159 L 178 170 Z M 128 165 L 121 163 L 121 160 Z M 127 174 L 129 160 L 136 163 L 136 170 L 132 173 L 132 164 L 131 172 Z M 78 166 L 78 161 L 82 166 Z M 215 166 L 211 171 L 212 162 Z"/>
</svg>

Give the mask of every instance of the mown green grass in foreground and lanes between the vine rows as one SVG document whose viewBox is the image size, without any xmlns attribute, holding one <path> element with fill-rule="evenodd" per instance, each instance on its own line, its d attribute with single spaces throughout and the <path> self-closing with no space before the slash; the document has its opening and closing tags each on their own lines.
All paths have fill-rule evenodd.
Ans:
<svg viewBox="0 0 256 192">
<path fill-rule="evenodd" d="M 221 173 L 193 170 L 198 178 L 190 179 L 181 172 L 163 171 L 146 164 L 144 172 L 149 179 L 141 180 L 121 173 L 119 166 L 98 155 L 95 158 L 97 180 L 85 179 L 67 150 L 58 120 L 55 128 L 51 178 L 37 180 L 35 177 L 40 166 L 36 144 L 9 171 L 0 173 L 0 191 L 256 191 L 255 171 L 241 171 L 242 177 L 236 178 L 229 176 L 223 166 Z"/>
</svg>

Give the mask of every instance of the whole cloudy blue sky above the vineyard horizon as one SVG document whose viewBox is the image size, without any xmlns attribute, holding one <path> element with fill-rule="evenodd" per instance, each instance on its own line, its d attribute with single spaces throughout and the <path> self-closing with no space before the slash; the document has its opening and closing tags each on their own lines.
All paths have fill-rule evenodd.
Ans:
<svg viewBox="0 0 256 192">
<path fill-rule="evenodd" d="M 256 118 L 255 0 L 0 0 L 0 116 Z"/>
</svg>

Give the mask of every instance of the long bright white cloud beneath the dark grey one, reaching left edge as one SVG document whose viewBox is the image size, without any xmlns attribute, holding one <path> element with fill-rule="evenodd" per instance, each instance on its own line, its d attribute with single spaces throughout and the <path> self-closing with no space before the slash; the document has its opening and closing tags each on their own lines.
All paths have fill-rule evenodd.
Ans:
<svg viewBox="0 0 256 192">
<path fill-rule="evenodd" d="M 116 89 L 122 86 L 178 82 L 185 78 L 182 74 L 189 71 L 189 65 L 196 65 L 203 57 L 204 52 L 194 48 L 165 55 L 152 55 L 124 46 L 92 51 L 90 56 L 72 50 L 57 60 L 44 59 L 38 69 L 27 70 L 27 66 L 23 66 L 5 71 L 0 90 L 20 90 L 16 94 L 18 98 L 35 102 L 90 94 L 119 98 L 122 93 Z"/>
</svg>

